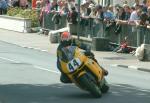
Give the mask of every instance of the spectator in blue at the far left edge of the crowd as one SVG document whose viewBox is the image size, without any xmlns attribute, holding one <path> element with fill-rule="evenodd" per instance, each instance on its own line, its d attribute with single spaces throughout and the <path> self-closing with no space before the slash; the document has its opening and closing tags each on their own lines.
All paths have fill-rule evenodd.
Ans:
<svg viewBox="0 0 150 103">
<path fill-rule="evenodd" d="M 0 15 L 7 13 L 8 4 L 6 0 L 0 0 Z"/>
</svg>

